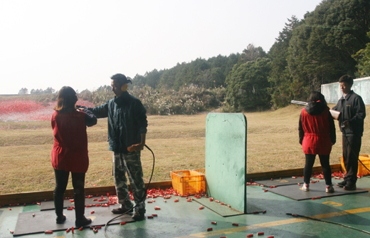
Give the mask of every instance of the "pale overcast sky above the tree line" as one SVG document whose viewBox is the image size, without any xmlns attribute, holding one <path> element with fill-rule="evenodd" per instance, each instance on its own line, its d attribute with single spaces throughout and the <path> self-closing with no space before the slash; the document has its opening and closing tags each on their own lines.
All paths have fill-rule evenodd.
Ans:
<svg viewBox="0 0 370 238">
<path fill-rule="evenodd" d="M 292 15 L 319 0 L 1 0 L 0 94 L 21 88 L 94 90 L 110 76 L 196 58 L 266 52 Z"/>
</svg>

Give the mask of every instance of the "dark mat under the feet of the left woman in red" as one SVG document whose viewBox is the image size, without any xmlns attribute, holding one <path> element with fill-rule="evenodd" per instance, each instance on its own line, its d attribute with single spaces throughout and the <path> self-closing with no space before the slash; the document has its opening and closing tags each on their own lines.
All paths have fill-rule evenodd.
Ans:
<svg viewBox="0 0 370 238">
<path fill-rule="evenodd" d="M 117 217 L 117 214 L 110 212 L 114 207 L 117 207 L 117 205 L 110 207 L 86 207 L 85 217 L 89 217 L 93 220 L 93 222 L 88 224 L 87 227 L 104 226 L 110 219 Z M 94 212 L 91 213 L 92 211 Z M 63 224 L 56 224 L 56 213 L 54 210 L 20 213 L 16 222 L 16 228 L 14 229 L 14 236 L 44 233 L 45 231 L 57 232 L 75 227 L 75 210 L 63 209 L 63 213 L 67 217 Z M 124 216 L 110 222 L 110 224 L 134 222 L 134 219 L 132 219 L 131 216 L 132 214 L 125 214 Z M 78 228 L 80 227 L 75 229 Z"/>
</svg>

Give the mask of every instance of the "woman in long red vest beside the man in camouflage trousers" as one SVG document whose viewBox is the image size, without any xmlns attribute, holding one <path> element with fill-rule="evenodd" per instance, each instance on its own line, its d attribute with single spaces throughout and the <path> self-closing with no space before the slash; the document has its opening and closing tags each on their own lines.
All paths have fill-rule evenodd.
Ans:
<svg viewBox="0 0 370 238">
<path fill-rule="evenodd" d="M 54 206 L 56 223 L 65 222 L 63 214 L 64 192 L 68 185 L 69 173 L 75 200 L 75 226 L 83 227 L 91 223 L 85 217 L 85 173 L 88 171 L 88 135 L 86 126 L 97 123 L 97 118 L 87 109 L 76 110 L 77 95 L 73 88 L 64 86 L 58 93 L 58 103 L 54 108 L 51 126 L 54 145 L 51 151 L 51 164 L 56 175 Z"/>
</svg>

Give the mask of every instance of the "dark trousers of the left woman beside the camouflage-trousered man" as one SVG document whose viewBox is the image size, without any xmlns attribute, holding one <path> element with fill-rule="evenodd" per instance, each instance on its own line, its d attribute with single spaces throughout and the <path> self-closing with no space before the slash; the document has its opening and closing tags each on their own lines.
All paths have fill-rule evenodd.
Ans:
<svg viewBox="0 0 370 238">
<path fill-rule="evenodd" d="M 56 215 L 61 216 L 63 215 L 64 192 L 68 185 L 70 172 L 54 169 L 54 173 L 56 175 L 54 206 L 56 207 Z M 85 172 L 71 172 L 71 174 L 77 219 L 83 217 L 85 214 Z"/>
</svg>

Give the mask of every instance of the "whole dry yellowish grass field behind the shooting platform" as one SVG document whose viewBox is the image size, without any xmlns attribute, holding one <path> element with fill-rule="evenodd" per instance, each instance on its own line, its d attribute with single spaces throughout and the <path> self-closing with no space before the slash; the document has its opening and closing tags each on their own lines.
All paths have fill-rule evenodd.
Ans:
<svg viewBox="0 0 370 238">
<path fill-rule="evenodd" d="M 332 107 L 332 105 L 329 105 Z M 275 111 L 245 113 L 248 123 L 247 172 L 286 170 L 305 165 L 298 143 L 300 105 Z M 366 106 L 367 112 L 370 106 Z M 370 154 L 370 123 L 365 119 L 361 154 Z M 155 153 L 153 181 L 171 180 L 170 171 L 204 168 L 206 114 L 148 116 L 147 145 Z M 342 135 L 337 127 L 337 144 L 331 163 L 339 163 Z M 108 150 L 107 120 L 88 128 L 90 167 L 85 187 L 114 185 L 112 152 Z M 0 122 L 0 194 L 53 190 L 51 167 L 53 133 L 51 123 Z M 144 180 L 152 172 L 152 154 L 142 152 Z M 319 165 L 316 162 L 316 165 Z M 68 188 L 72 185 L 69 183 Z"/>
</svg>

